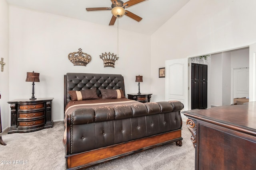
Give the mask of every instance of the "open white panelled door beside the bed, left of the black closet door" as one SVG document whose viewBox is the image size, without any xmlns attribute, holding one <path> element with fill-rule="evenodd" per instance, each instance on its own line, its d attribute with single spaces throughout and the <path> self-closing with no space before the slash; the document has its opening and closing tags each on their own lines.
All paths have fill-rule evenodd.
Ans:
<svg viewBox="0 0 256 170">
<path fill-rule="evenodd" d="M 188 110 L 188 59 L 174 59 L 165 62 L 165 99 L 178 100 Z"/>
</svg>

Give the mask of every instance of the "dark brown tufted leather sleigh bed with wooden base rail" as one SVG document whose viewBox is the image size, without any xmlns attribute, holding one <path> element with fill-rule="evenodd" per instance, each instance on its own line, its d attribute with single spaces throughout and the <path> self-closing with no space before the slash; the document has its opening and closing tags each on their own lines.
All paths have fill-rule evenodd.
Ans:
<svg viewBox="0 0 256 170">
<path fill-rule="evenodd" d="M 88 90 L 96 98 L 78 97 Z M 106 98 L 110 91 L 123 94 Z M 83 169 L 170 142 L 182 145 L 182 103 L 143 104 L 124 96 L 121 74 L 64 75 L 66 169 Z"/>
</svg>

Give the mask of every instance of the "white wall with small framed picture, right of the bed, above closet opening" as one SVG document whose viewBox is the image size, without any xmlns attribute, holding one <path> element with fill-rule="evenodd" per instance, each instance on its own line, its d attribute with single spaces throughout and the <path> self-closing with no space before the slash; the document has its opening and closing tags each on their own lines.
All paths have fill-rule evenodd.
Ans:
<svg viewBox="0 0 256 170">
<path fill-rule="evenodd" d="M 170 59 L 195 57 L 256 42 L 255 0 L 190 0 L 151 36 L 151 92 L 165 99 L 158 68 Z"/>
</svg>

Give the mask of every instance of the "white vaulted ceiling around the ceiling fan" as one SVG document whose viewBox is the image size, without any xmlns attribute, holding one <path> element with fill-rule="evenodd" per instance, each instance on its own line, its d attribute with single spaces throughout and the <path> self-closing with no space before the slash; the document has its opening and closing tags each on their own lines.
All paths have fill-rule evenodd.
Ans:
<svg viewBox="0 0 256 170">
<path fill-rule="evenodd" d="M 39 12 L 47 12 L 100 25 L 109 24 L 110 10 L 87 12 L 86 8 L 111 7 L 111 0 L 6 0 L 9 4 Z M 127 2 L 128 0 L 123 0 Z M 119 28 L 151 35 L 189 0 L 145 0 L 126 10 L 142 17 L 137 22 L 127 16 L 119 19 Z M 117 22 L 113 26 L 116 27 Z"/>
</svg>

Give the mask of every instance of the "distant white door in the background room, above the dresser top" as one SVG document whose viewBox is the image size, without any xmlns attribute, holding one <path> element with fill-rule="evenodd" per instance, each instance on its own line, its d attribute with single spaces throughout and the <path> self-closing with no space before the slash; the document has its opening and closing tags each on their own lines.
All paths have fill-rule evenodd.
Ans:
<svg viewBox="0 0 256 170">
<path fill-rule="evenodd" d="M 249 97 L 249 68 L 233 69 L 234 98 Z"/>
</svg>

